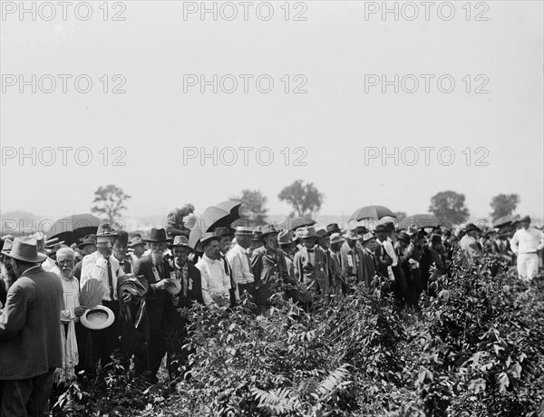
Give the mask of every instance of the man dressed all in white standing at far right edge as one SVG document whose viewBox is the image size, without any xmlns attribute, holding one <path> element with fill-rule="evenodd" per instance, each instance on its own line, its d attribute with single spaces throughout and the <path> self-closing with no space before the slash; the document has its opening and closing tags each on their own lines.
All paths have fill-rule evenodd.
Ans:
<svg viewBox="0 0 544 417">
<path fill-rule="evenodd" d="M 520 224 L 510 240 L 510 248 L 518 256 L 518 275 L 530 281 L 539 272 L 538 251 L 544 247 L 544 238 L 541 230 L 530 226 L 529 216 L 520 218 Z"/>
</svg>

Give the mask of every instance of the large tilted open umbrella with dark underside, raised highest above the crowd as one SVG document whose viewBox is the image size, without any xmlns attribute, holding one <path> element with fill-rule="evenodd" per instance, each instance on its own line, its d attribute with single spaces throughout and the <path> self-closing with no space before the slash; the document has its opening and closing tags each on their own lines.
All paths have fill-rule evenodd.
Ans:
<svg viewBox="0 0 544 417">
<path fill-rule="evenodd" d="M 221 227 L 228 228 L 231 223 L 240 218 L 239 208 L 241 205 L 240 201 L 223 201 L 206 208 L 197 220 L 197 224 L 190 231 L 189 246 L 196 248 L 200 238 L 206 232 L 212 232 Z"/>
</svg>

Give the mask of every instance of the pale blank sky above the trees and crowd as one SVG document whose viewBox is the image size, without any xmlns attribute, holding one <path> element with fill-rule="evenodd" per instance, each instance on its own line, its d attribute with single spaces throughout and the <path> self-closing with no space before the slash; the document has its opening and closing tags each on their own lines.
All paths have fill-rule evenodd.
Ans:
<svg viewBox="0 0 544 417">
<path fill-rule="evenodd" d="M 465 2 L 453 2 L 449 21 L 447 7 L 432 8 L 427 21 L 415 2 L 419 15 L 409 20 L 414 10 L 399 3 L 395 21 L 375 10 L 382 2 L 347 1 L 292 2 L 287 21 L 277 2 L 266 21 L 269 10 L 259 6 L 257 15 L 258 3 L 248 21 L 239 2 L 232 21 L 234 9 L 220 3 L 217 21 L 189 14 L 200 2 L 110 4 L 107 21 L 102 2 L 87 21 L 81 7 L 77 16 L 68 9 L 66 21 L 60 5 L 51 21 L 45 8 L 36 21 L 4 10 L 1 210 L 88 212 L 94 190 L 112 183 L 132 196 L 130 217 L 185 202 L 201 211 L 241 189 L 262 190 L 270 213 L 287 214 L 277 194 L 303 179 L 325 194 L 322 214 L 369 204 L 426 212 L 432 195 L 452 189 L 465 194 L 475 217 L 489 214 L 493 196 L 518 193 L 518 211 L 542 218 L 542 2 L 473 3 L 468 21 Z M 113 21 L 115 13 L 125 20 Z M 20 74 L 28 85 L 21 87 Z M 59 74 L 72 77 L 67 92 Z M 217 93 L 214 74 L 223 77 Z M 76 90 L 80 75 L 81 91 L 92 80 L 90 92 Z M 204 93 L 188 83 L 200 75 L 212 82 Z M 382 75 L 393 82 L 385 92 Z M 228 93 L 232 79 L 238 88 Z M 55 150 L 50 166 L 47 147 Z M 59 147 L 72 148 L 66 166 Z M 244 147 L 253 148 L 248 166 Z M 33 148 L 35 160 L 21 164 L 20 151 Z M 211 157 L 189 158 L 214 148 L 217 166 Z M 382 160 L 395 148 L 398 159 Z M 114 166 L 116 158 L 124 166 Z"/>
</svg>

